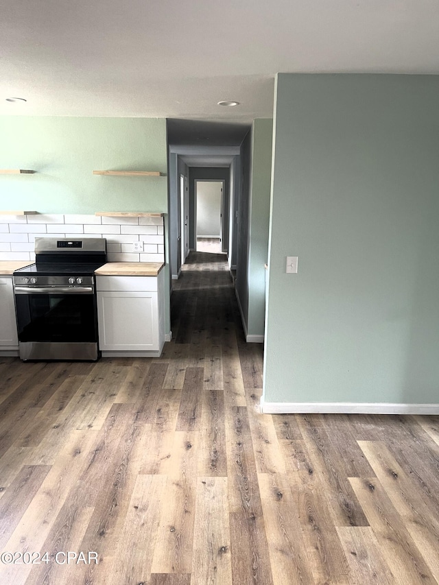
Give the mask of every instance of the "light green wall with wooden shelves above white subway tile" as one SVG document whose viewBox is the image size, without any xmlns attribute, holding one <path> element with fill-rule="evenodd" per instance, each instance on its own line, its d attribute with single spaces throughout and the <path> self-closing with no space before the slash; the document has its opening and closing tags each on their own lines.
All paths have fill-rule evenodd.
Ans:
<svg viewBox="0 0 439 585">
<path fill-rule="evenodd" d="M 165 177 L 95 176 L 93 170 L 167 172 L 166 120 L 0 117 L 0 209 L 38 213 L 167 212 Z M 12 204 L 13 202 L 13 204 Z"/>
</svg>

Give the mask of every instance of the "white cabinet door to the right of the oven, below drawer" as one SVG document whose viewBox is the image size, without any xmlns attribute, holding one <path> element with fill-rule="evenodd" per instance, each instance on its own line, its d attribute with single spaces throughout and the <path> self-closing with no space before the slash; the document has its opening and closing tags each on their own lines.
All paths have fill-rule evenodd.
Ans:
<svg viewBox="0 0 439 585">
<path fill-rule="evenodd" d="M 97 293 L 99 349 L 158 350 L 158 307 L 154 291 Z"/>
</svg>

